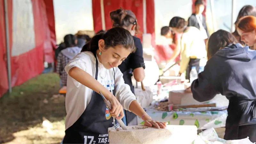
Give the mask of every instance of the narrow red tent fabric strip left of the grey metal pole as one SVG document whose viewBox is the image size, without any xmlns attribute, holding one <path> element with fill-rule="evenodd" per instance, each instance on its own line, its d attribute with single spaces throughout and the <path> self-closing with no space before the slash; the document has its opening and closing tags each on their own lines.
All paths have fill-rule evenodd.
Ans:
<svg viewBox="0 0 256 144">
<path fill-rule="evenodd" d="M 6 66 L 6 43 L 5 43 L 5 19 L 4 19 L 4 0 L 0 0 L 0 97 L 8 89 L 8 77 Z"/>
</svg>

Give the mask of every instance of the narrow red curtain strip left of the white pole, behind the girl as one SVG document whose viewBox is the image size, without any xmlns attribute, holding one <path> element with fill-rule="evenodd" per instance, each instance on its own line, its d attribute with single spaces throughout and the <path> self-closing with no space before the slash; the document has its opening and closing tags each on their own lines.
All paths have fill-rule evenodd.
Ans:
<svg viewBox="0 0 256 144">
<path fill-rule="evenodd" d="M 102 30 L 100 0 L 92 0 L 92 18 L 95 33 Z"/>
</svg>

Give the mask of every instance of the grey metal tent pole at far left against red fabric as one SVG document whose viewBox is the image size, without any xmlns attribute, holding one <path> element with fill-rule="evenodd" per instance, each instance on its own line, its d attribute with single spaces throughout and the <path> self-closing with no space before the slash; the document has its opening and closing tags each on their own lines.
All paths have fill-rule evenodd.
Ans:
<svg viewBox="0 0 256 144">
<path fill-rule="evenodd" d="M 7 0 L 4 0 L 4 15 L 5 15 L 5 37 L 6 37 L 6 55 L 7 55 L 7 69 L 8 69 L 8 86 L 9 93 L 12 92 L 11 85 L 11 57 L 10 57 L 10 40 L 9 40 L 9 22 L 8 22 L 8 4 Z"/>
</svg>

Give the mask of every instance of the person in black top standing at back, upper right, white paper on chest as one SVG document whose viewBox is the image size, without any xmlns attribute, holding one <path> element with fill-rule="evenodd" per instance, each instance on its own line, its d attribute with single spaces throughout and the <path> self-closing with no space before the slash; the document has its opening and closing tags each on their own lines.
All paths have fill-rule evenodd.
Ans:
<svg viewBox="0 0 256 144">
<path fill-rule="evenodd" d="M 203 0 L 196 0 L 196 2 L 195 2 L 196 12 L 193 13 L 188 18 L 188 26 L 198 28 L 201 31 L 204 39 L 208 39 L 209 38 L 209 32 L 207 30 L 205 17 L 202 15 L 202 13 L 204 12 L 204 8 L 205 8 L 204 1 Z"/>
</svg>

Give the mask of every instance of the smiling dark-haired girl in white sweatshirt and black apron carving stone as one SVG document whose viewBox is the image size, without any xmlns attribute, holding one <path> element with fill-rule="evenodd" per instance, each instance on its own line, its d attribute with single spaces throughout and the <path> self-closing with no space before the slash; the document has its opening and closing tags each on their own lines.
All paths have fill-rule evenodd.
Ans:
<svg viewBox="0 0 256 144">
<path fill-rule="evenodd" d="M 66 65 L 67 116 L 63 144 L 109 143 L 108 127 L 113 126 L 110 118 L 122 119 L 123 108 L 142 118 L 147 126 L 166 127 L 166 123 L 147 115 L 117 68 L 135 49 L 128 30 L 111 28 L 94 36 L 84 45 L 83 52 Z M 100 92 L 110 101 L 112 110 L 108 110 Z"/>
</svg>

